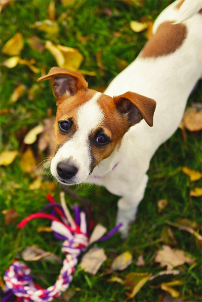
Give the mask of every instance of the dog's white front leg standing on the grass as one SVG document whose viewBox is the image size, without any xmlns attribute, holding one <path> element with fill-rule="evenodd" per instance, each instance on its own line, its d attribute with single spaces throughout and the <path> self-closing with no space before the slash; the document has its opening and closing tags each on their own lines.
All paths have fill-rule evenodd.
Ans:
<svg viewBox="0 0 202 302">
<path fill-rule="evenodd" d="M 131 191 L 127 188 L 125 195 L 118 201 L 116 224 L 122 223 L 120 232 L 123 239 L 128 235 L 129 223 L 136 219 L 138 205 L 144 197 L 147 181 L 148 176 L 145 174 L 138 188 L 135 191 L 133 188 Z"/>
</svg>

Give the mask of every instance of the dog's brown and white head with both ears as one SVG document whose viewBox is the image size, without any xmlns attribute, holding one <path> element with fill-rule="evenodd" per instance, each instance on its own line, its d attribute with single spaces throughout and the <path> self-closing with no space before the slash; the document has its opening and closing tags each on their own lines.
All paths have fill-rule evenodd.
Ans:
<svg viewBox="0 0 202 302">
<path fill-rule="evenodd" d="M 57 104 L 51 173 L 60 183 L 85 182 L 129 127 L 142 119 L 153 125 L 156 102 L 152 99 L 131 92 L 109 97 L 88 89 L 80 72 L 59 67 L 38 81 L 47 79 Z"/>
</svg>

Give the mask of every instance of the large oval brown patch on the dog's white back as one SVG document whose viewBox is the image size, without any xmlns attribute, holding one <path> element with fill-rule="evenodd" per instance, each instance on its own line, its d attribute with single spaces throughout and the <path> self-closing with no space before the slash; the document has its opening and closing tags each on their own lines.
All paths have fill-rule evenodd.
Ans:
<svg viewBox="0 0 202 302">
<path fill-rule="evenodd" d="M 140 57 L 157 58 L 176 51 L 186 38 L 187 29 L 184 24 L 162 23 L 156 34 L 147 42 Z"/>
</svg>

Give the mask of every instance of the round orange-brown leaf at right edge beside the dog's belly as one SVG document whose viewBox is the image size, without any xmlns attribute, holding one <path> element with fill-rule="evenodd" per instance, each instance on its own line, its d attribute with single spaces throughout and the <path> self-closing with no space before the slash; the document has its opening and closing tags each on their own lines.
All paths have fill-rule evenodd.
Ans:
<svg viewBox="0 0 202 302">
<path fill-rule="evenodd" d="M 182 123 L 189 131 L 199 131 L 202 129 L 202 110 L 197 106 L 186 109 Z"/>
</svg>

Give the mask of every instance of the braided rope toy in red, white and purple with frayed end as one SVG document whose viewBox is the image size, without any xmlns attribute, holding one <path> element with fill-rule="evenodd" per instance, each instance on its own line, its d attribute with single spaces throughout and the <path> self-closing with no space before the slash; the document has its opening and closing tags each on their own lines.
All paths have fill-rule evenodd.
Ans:
<svg viewBox="0 0 202 302">
<path fill-rule="evenodd" d="M 44 206 L 41 212 L 26 217 L 18 224 L 18 228 L 24 228 L 28 221 L 35 218 L 46 218 L 52 221 L 51 229 L 54 236 L 63 241 L 62 252 L 65 254 L 63 266 L 56 282 L 47 289 L 42 288 L 34 282 L 30 274 L 30 268 L 23 262 L 14 260 L 4 276 L 7 290 L 5 290 L 6 296 L 2 298 L 2 302 L 10 301 L 13 295 L 17 296 L 16 301 L 18 302 L 46 302 L 59 297 L 69 287 L 73 279 L 80 253 L 84 252 L 92 242 L 107 240 L 120 228 L 121 224 L 116 225 L 105 237 L 100 238 L 104 234 L 102 233 L 101 236 L 94 235 L 95 240 L 90 240 L 90 234 L 93 235 L 96 230 L 95 227 L 92 232 L 94 222 L 90 211 L 87 211 L 86 217 L 86 213 L 80 211 L 79 207 L 74 205 L 75 219 L 73 219 L 66 207 L 64 193 L 61 192 L 60 196 L 61 205 L 56 203 L 52 196 L 48 194 L 49 204 Z M 51 214 L 43 213 L 49 207 L 53 207 Z M 60 219 L 56 217 L 56 214 L 60 216 Z"/>
</svg>

